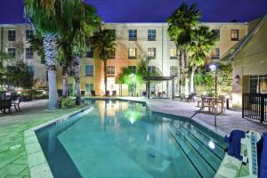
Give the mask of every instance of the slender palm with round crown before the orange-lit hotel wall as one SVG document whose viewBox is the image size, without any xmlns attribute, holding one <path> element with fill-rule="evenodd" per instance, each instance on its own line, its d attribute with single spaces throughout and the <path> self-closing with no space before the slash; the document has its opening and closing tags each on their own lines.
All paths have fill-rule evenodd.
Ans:
<svg viewBox="0 0 267 178">
<path fill-rule="evenodd" d="M 93 38 L 93 48 L 104 62 L 105 95 L 107 93 L 107 61 L 116 50 L 116 35 L 114 30 L 101 29 Z"/>
</svg>

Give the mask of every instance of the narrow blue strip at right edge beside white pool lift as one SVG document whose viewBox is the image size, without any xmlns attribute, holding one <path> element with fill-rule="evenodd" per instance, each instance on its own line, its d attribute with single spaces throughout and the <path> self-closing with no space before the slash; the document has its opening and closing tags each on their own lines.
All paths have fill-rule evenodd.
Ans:
<svg viewBox="0 0 267 178">
<path fill-rule="evenodd" d="M 267 177 L 267 133 L 263 133 L 263 150 L 260 165 L 260 178 Z"/>
</svg>

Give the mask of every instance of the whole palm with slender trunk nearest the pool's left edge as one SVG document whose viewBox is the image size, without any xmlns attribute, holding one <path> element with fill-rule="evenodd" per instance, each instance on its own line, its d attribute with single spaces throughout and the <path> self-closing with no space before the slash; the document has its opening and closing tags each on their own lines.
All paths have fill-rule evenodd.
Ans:
<svg viewBox="0 0 267 178">
<path fill-rule="evenodd" d="M 77 13 L 72 16 L 72 28 L 67 30 L 64 36 L 70 44 L 72 71 L 76 82 L 76 104 L 79 105 L 81 102 L 80 57 L 87 51 L 87 39 L 101 27 L 101 18 L 96 14 L 96 9 L 89 4 L 76 4 L 73 9 Z"/>
</svg>

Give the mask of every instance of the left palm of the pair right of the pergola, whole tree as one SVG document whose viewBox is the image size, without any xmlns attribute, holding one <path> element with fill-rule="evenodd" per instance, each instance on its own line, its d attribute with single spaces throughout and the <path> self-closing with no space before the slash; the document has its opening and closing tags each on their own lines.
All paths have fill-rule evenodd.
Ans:
<svg viewBox="0 0 267 178">
<path fill-rule="evenodd" d="M 192 29 L 197 25 L 200 13 L 196 9 L 196 4 L 182 3 L 178 9 L 167 19 L 168 22 L 168 34 L 174 39 L 176 48 L 179 50 L 179 63 L 180 63 L 180 75 L 179 75 L 179 93 L 181 93 L 182 76 L 185 77 L 185 94 L 189 94 L 189 75 L 188 75 L 188 51 L 192 40 Z M 183 55 L 183 62 L 182 62 Z"/>
</svg>

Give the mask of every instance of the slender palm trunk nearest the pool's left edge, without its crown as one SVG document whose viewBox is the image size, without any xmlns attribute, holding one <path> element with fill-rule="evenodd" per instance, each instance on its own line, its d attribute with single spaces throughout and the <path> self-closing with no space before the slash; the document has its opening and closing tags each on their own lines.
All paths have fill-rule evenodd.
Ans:
<svg viewBox="0 0 267 178">
<path fill-rule="evenodd" d="M 72 69 L 76 83 L 76 105 L 81 104 L 81 84 L 80 84 L 80 57 L 76 54 L 72 59 Z"/>
</svg>

